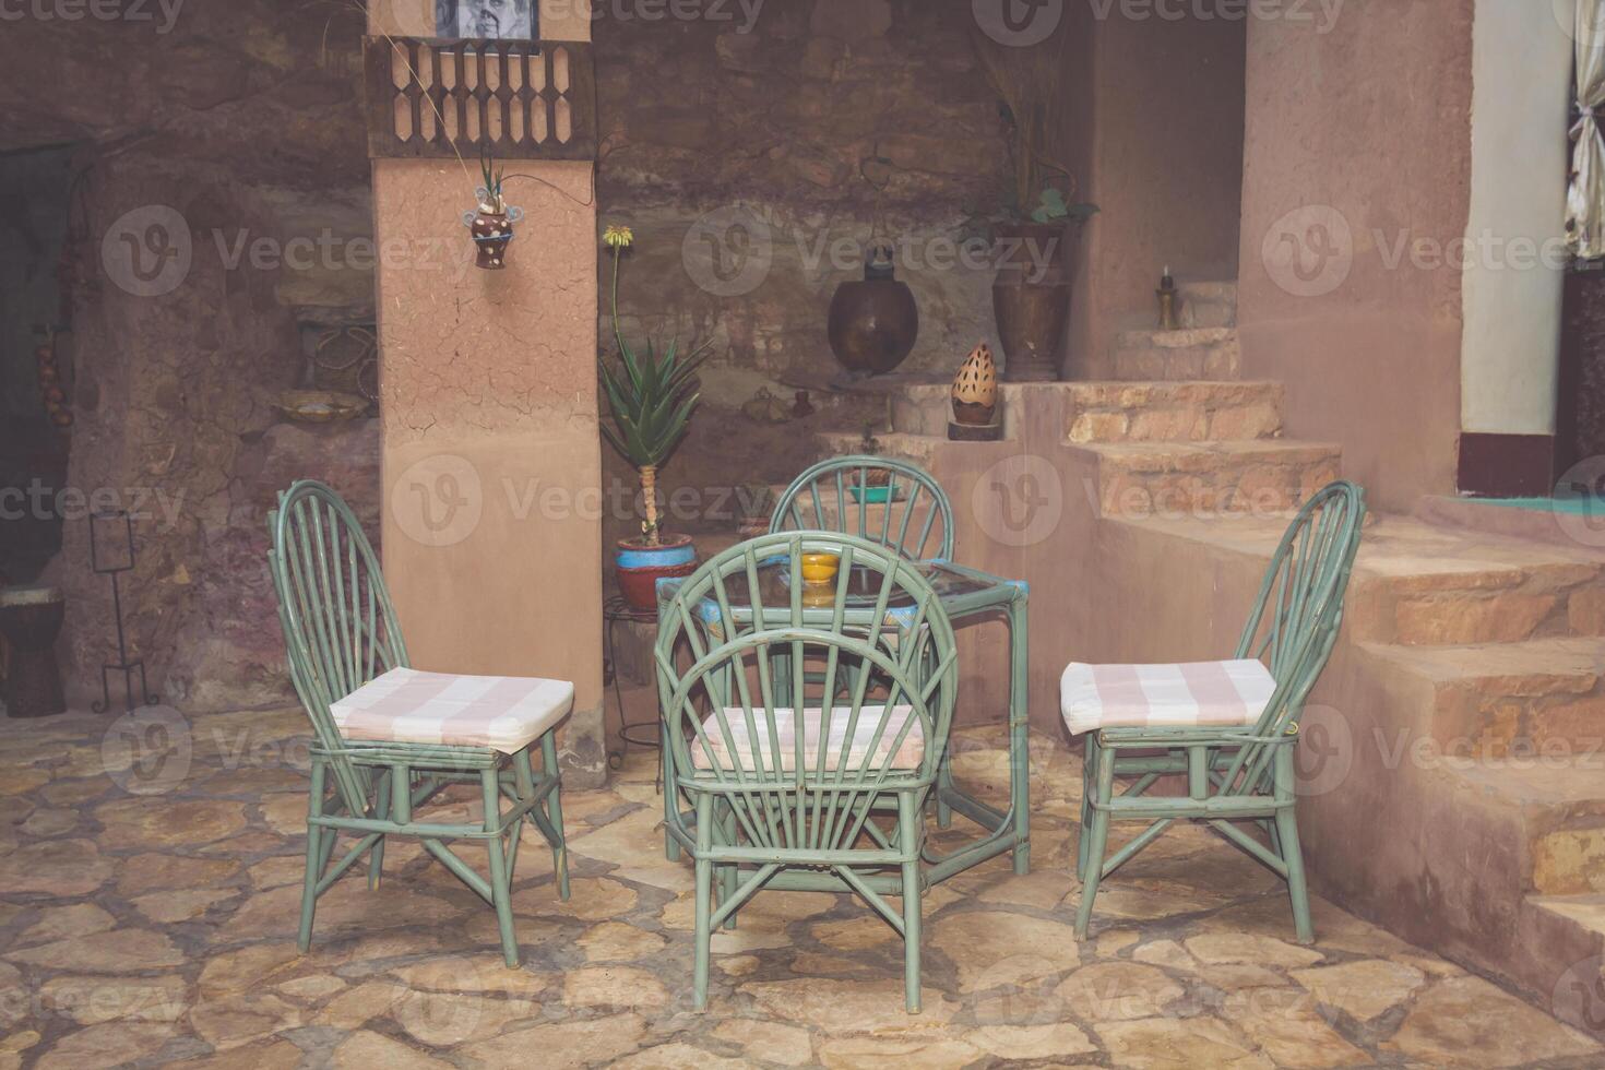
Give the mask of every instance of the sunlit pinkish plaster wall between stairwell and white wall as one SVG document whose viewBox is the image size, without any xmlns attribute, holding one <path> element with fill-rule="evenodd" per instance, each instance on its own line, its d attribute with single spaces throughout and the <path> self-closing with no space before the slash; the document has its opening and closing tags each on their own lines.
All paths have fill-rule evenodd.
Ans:
<svg viewBox="0 0 1605 1070">
<path fill-rule="evenodd" d="M 1287 435 L 1343 444 L 1372 507 L 1454 489 L 1470 210 L 1472 0 L 1350 0 L 1249 24 L 1237 322 Z"/>
</svg>

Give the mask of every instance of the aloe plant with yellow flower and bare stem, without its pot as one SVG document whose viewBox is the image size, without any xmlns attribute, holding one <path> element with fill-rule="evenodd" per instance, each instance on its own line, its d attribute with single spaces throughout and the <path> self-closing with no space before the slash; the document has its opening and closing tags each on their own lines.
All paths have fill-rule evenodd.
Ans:
<svg viewBox="0 0 1605 1070">
<path fill-rule="evenodd" d="M 618 340 L 620 369 L 600 359 L 602 390 L 615 427 L 602 425 L 602 433 L 640 475 L 640 492 L 645 499 L 647 518 L 640 525 L 642 541 L 648 547 L 661 545 L 658 537 L 658 468 L 679 446 L 690 427 L 692 412 L 701 393 L 695 390 L 697 366 L 706 356 L 711 343 L 703 343 L 682 355 L 679 340 L 669 342 L 661 359 L 653 340 L 647 340 L 645 355 L 639 355 L 618 319 L 618 266 L 624 249 L 634 242 L 628 226 L 610 226 L 602 239 L 613 250 L 613 337 Z"/>
</svg>

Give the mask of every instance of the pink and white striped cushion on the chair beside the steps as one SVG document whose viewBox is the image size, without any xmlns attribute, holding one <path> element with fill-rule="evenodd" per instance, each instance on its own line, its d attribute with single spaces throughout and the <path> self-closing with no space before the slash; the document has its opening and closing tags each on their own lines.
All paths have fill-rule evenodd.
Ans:
<svg viewBox="0 0 1605 1070">
<path fill-rule="evenodd" d="M 1258 661 L 1154 666 L 1072 663 L 1059 677 L 1059 709 L 1072 733 L 1096 728 L 1252 725 L 1276 693 Z"/>
</svg>

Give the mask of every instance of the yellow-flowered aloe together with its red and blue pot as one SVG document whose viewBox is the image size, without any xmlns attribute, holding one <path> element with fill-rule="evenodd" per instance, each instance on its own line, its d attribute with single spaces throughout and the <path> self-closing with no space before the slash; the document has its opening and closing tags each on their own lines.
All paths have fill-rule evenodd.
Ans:
<svg viewBox="0 0 1605 1070">
<path fill-rule="evenodd" d="M 690 353 L 669 342 L 663 356 L 647 340 L 645 353 L 637 353 L 626 340 L 618 318 L 620 260 L 634 242 L 628 226 L 610 226 L 603 244 L 613 250 L 613 337 L 618 340 L 620 366 L 599 361 L 602 390 L 607 395 L 613 427 L 602 433 L 640 475 L 645 520 L 640 537 L 620 539 L 615 553 L 618 587 L 629 605 L 653 610 L 658 605 L 658 579 L 690 576 L 697 571 L 697 545 L 690 536 L 664 536 L 658 528 L 658 468 L 679 446 L 690 425 L 700 395 L 695 372 L 708 345 Z"/>
</svg>

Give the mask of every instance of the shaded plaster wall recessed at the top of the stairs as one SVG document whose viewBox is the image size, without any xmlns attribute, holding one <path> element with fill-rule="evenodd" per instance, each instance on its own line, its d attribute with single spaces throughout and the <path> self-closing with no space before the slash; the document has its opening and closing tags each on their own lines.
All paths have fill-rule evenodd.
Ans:
<svg viewBox="0 0 1605 1070">
<path fill-rule="evenodd" d="M 1107 379 L 1114 334 L 1156 326 L 1167 265 L 1181 281 L 1237 278 L 1244 22 L 1095 6 L 1067 35 L 1087 77 L 1067 75 L 1080 101 L 1063 136 L 1099 212 L 1082 236 L 1066 379 Z"/>
</svg>

